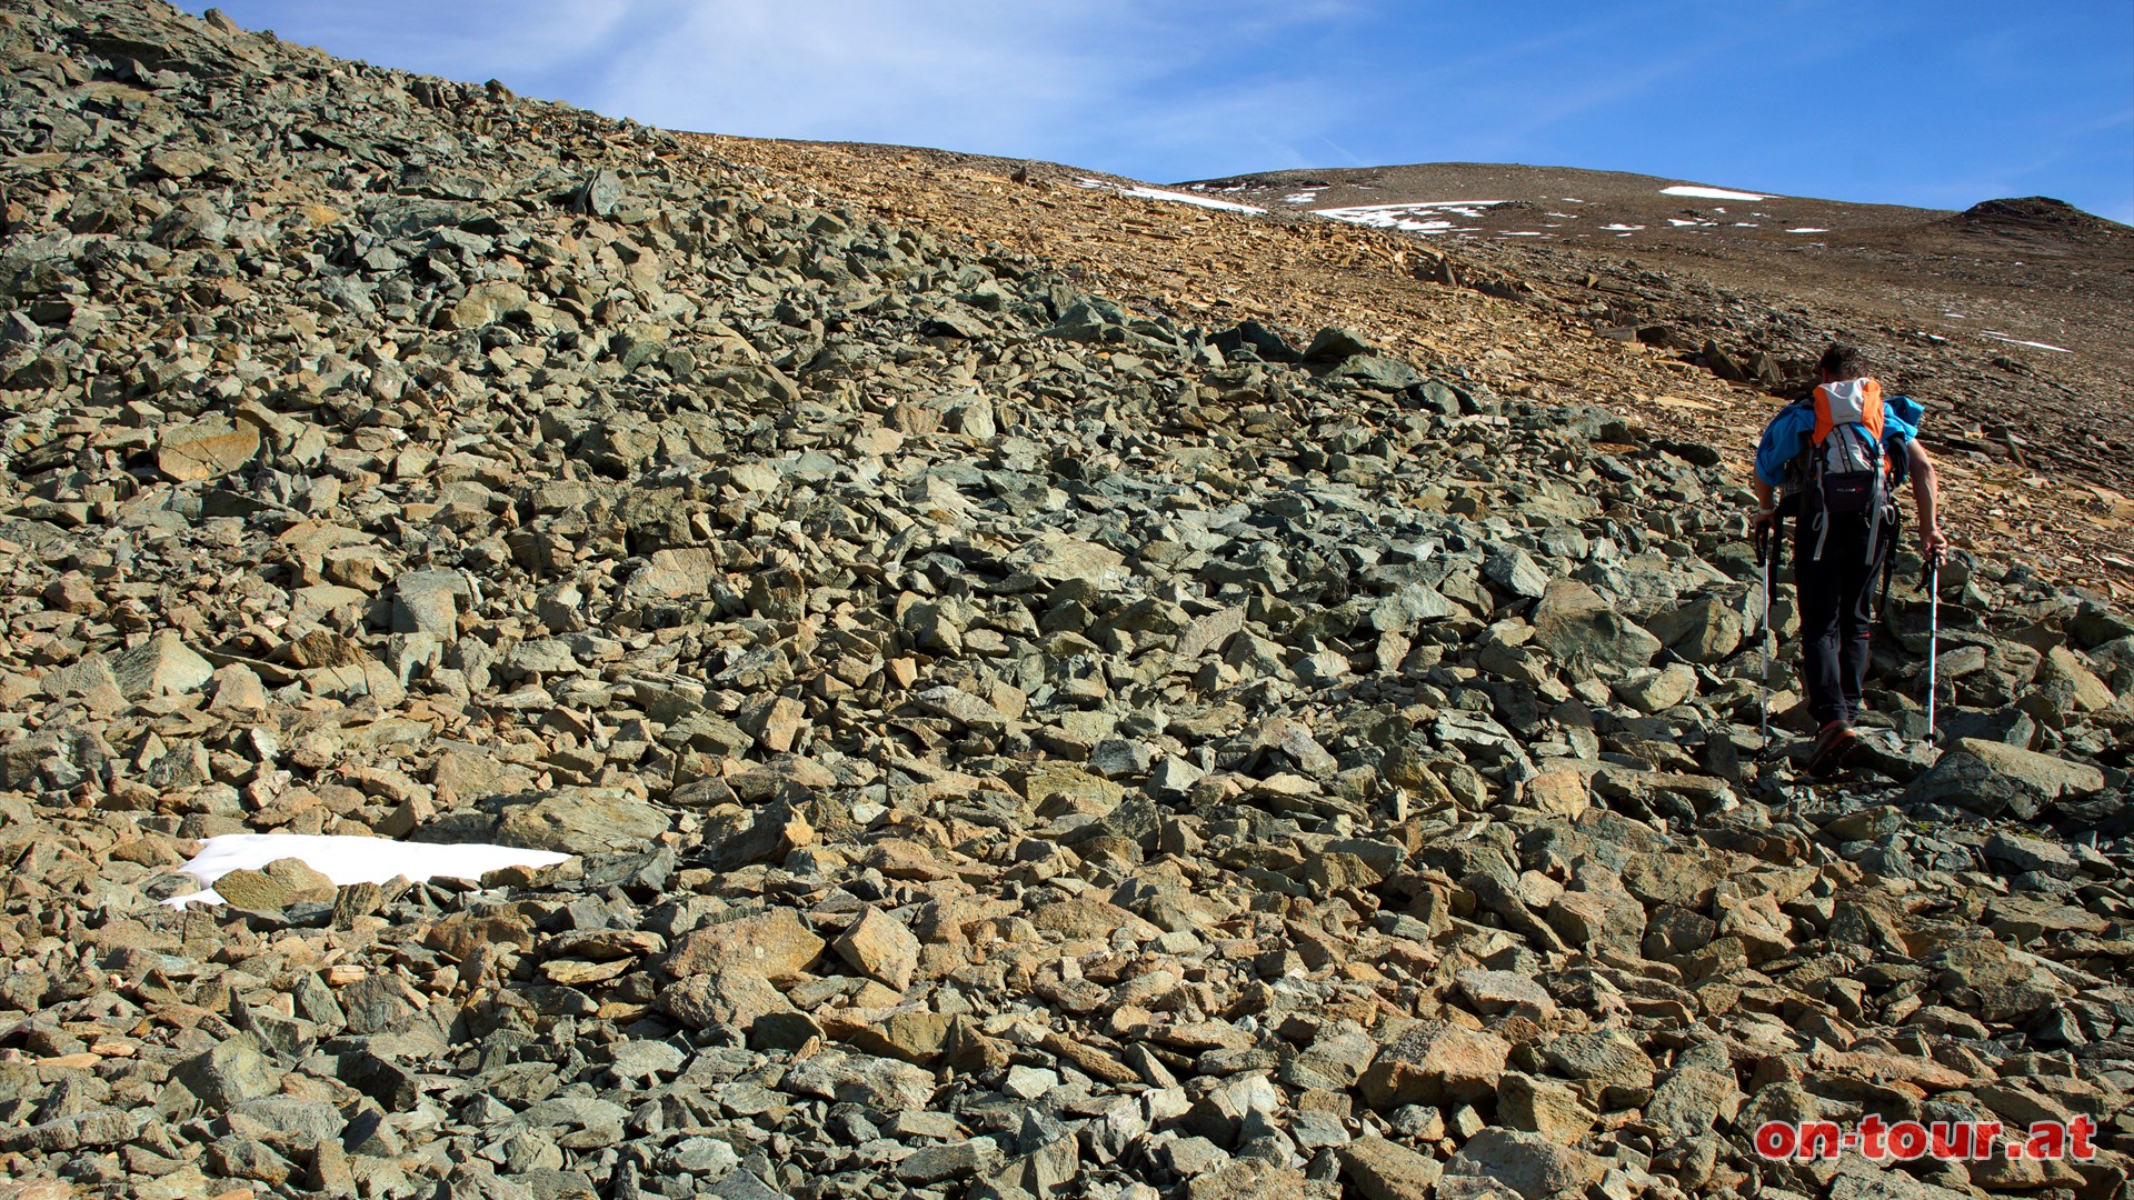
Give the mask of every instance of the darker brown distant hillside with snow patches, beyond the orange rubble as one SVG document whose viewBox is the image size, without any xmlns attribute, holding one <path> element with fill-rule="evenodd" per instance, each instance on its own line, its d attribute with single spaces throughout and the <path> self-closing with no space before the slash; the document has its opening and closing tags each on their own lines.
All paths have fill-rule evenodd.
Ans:
<svg viewBox="0 0 2134 1200">
<path fill-rule="evenodd" d="M 1980 534 L 1997 540 L 2036 523 L 2044 538 L 2021 534 L 2029 562 L 2064 579 L 2096 579 L 2100 566 L 2134 572 L 2123 536 L 2100 547 L 2100 562 L 2076 549 L 2072 527 L 2134 517 L 2134 342 L 2111 316 L 2134 305 L 2134 231 L 2042 196 L 1946 214 L 1810 196 L 1684 199 L 1665 192 L 1673 184 L 1436 162 L 1180 188 L 1276 214 L 1368 205 L 1347 209 L 1368 216 L 1494 196 L 1500 203 L 1443 214 L 1464 228 L 1421 241 L 1453 243 L 1462 258 L 1515 278 L 1509 295 L 1530 305 L 1778 397 L 1814 382 L 1831 337 L 1869 346 L 1884 382 L 1931 404 L 1936 451 L 1987 468 L 1959 489 Z M 2006 468 L 2038 483 L 2008 489 L 1993 478 Z M 2036 489 L 2051 500 L 2023 504 Z"/>
</svg>

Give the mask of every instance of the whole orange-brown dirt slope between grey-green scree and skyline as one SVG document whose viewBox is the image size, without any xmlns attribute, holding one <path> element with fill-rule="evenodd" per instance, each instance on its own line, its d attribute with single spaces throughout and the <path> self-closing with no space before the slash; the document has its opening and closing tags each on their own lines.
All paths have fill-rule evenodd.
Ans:
<svg viewBox="0 0 2134 1200">
<path fill-rule="evenodd" d="M 2134 335 L 2121 316 L 2134 310 L 2134 239 L 2057 201 L 1970 214 L 1718 201 L 1662 194 L 1675 181 L 1645 175 L 1485 164 L 1176 186 L 1270 209 L 1244 216 L 1090 188 L 1127 181 L 1056 164 L 702 141 L 770 181 L 1050 258 L 1184 322 L 1347 325 L 1500 391 L 1605 404 L 1662 433 L 1682 425 L 1735 457 L 1743 480 L 1773 397 L 1801 386 L 1831 337 L 1854 340 L 1929 404 L 1959 547 L 2134 589 Z M 1470 233 L 1455 235 L 1310 211 L 1434 201 L 1502 203 L 1460 218 Z M 1609 224 L 1643 228 L 1613 237 Z M 1818 233 L 1788 233 L 1801 228 Z"/>
</svg>

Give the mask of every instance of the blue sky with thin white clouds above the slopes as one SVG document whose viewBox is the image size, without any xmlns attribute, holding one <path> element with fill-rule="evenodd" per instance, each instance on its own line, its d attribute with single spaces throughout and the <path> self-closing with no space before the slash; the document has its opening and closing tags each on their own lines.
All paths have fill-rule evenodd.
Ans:
<svg viewBox="0 0 2134 1200">
<path fill-rule="evenodd" d="M 198 13 L 198 0 L 181 4 Z M 1528 162 L 2134 224 L 2134 0 L 220 0 L 644 124 L 1148 181 Z"/>
</svg>

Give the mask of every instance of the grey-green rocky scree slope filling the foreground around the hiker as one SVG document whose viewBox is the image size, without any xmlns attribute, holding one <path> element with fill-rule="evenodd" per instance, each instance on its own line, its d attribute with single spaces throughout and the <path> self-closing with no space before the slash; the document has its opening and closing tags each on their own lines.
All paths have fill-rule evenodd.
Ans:
<svg viewBox="0 0 2134 1200">
<path fill-rule="evenodd" d="M 1709 446 L 216 17 L 0 53 L 17 1194 L 2123 1187 L 2096 598 L 1944 572 L 1925 754 L 1899 596 L 1810 788 Z M 156 903 L 239 831 L 576 860 Z M 1861 1112 L 2104 1153 L 1752 1153 Z"/>
</svg>

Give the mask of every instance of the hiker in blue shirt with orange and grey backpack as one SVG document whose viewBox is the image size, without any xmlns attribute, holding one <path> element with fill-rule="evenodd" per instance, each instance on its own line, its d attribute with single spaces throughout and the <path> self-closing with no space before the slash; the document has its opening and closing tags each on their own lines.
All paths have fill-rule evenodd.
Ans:
<svg viewBox="0 0 2134 1200">
<path fill-rule="evenodd" d="M 1852 346 L 1825 350 L 1818 374 L 1814 395 L 1782 408 L 1763 431 L 1752 525 L 1756 544 L 1771 540 L 1775 553 L 1778 523 L 1793 519 L 1801 675 L 1816 720 L 1807 771 L 1829 775 L 1859 741 L 1852 720 L 1867 681 L 1869 604 L 1899 530 L 1891 489 L 1912 480 L 1927 562 L 1942 559 L 1948 538 L 1933 519 L 1938 493 L 1933 459 L 1918 444 L 1921 406 L 1901 395 L 1884 399 Z"/>
</svg>

